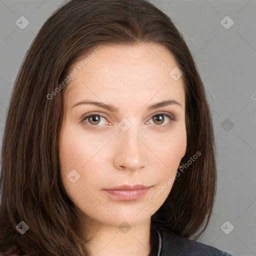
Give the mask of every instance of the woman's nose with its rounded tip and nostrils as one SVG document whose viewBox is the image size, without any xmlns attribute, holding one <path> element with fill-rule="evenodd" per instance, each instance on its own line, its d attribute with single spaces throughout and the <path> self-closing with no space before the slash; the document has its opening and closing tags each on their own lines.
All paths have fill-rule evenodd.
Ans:
<svg viewBox="0 0 256 256">
<path fill-rule="evenodd" d="M 116 169 L 136 171 L 148 163 L 149 149 L 141 132 L 133 128 L 119 129 L 114 140 L 113 165 Z"/>
</svg>

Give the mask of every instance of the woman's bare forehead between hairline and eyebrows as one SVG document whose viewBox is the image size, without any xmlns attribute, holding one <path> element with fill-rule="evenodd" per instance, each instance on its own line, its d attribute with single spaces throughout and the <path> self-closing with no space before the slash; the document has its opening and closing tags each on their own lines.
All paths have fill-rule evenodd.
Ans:
<svg viewBox="0 0 256 256">
<path fill-rule="evenodd" d="M 167 94 L 184 101 L 182 77 L 174 80 L 169 75 L 177 64 L 162 45 L 103 46 L 86 64 L 85 58 L 70 68 L 77 73 L 67 85 L 67 101 L 89 97 L 119 103 L 144 102 L 153 97 L 162 99 Z"/>
</svg>

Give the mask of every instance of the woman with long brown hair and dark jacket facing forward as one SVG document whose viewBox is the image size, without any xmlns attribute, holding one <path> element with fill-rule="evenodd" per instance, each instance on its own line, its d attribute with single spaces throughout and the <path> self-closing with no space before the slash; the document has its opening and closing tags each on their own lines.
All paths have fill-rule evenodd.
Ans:
<svg viewBox="0 0 256 256">
<path fill-rule="evenodd" d="M 3 255 L 230 255 L 196 238 L 215 191 L 204 87 L 144 0 L 70 0 L 38 32 L 2 145 Z"/>
</svg>

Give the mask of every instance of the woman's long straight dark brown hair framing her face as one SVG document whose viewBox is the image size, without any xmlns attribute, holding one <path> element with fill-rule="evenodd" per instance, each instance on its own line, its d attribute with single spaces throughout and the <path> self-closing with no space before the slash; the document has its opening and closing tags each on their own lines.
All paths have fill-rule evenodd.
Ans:
<svg viewBox="0 0 256 256">
<path fill-rule="evenodd" d="M 205 228 L 215 191 L 214 136 L 203 83 L 182 34 L 145 0 L 70 0 L 45 21 L 14 83 L 1 152 L 0 251 L 22 246 L 31 255 L 89 255 L 79 212 L 60 178 L 66 86 L 47 95 L 93 49 L 139 43 L 165 46 L 185 88 L 187 148 L 180 165 L 189 166 L 153 217 L 183 237 Z M 200 156 L 191 161 L 196 152 Z M 29 226 L 24 234 L 15 228 L 20 221 Z"/>
</svg>

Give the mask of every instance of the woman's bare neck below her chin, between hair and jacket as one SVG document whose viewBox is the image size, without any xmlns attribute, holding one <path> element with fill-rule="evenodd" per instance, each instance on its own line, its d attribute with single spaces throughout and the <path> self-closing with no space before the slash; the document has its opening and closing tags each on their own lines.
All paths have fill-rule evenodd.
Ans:
<svg viewBox="0 0 256 256">
<path fill-rule="evenodd" d="M 136 225 L 107 225 L 86 221 L 85 244 L 93 256 L 148 256 L 150 218 Z"/>
</svg>

